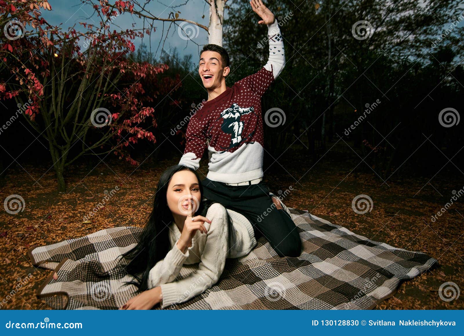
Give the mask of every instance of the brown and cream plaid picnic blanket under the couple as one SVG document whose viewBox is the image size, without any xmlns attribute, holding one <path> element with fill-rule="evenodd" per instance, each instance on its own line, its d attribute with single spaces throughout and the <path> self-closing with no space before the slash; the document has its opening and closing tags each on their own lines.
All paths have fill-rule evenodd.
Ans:
<svg viewBox="0 0 464 336">
<path fill-rule="evenodd" d="M 261 237 L 250 254 L 227 259 L 212 288 L 166 309 L 372 309 L 393 296 L 400 281 L 437 261 L 423 252 L 367 239 L 306 211 L 286 209 L 302 239 L 299 257 L 280 258 Z M 118 309 L 135 295 L 135 286 L 122 286 L 132 277 L 117 269 L 115 260 L 135 246 L 141 232 L 139 227 L 114 227 L 32 248 L 32 264 L 54 270 L 38 296 L 55 309 Z M 197 265 L 184 265 L 177 280 Z"/>
</svg>

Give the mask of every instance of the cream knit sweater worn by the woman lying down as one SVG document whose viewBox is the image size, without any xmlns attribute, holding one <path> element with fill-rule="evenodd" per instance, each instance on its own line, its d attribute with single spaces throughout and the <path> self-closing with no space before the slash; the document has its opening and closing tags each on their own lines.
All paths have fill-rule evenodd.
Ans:
<svg viewBox="0 0 464 336">
<path fill-rule="evenodd" d="M 227 213 L 232 218 L 235 246 L 228 249 Z M 238 258 L 248 254 L 256 246 L 253 227 L 249 220 L 240 213 L 228 210 L 219 203 L 213 203 L 206 218 L 211 224 L 204 223 L 207 233 L 197 231 L 185 253 L 177 247 L 180 231 L 172 222 L 169 225 L 171 250 L 150 270 L 148 288 L 161 286 L 162 308 L 179 304 L 199 295 L 218 282 L 226 258 Z M 184 264 L 196 264 L 191 273 L 176 280 Z"/>
</svg>

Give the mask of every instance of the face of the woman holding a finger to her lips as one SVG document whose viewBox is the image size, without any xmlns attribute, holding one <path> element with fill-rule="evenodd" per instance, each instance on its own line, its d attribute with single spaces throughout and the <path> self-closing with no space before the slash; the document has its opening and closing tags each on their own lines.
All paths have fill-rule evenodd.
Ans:
<svg viewBox="0 0 464 336">
<path fill-rule="evenodd" d="M 188 203 L 195 213 L 201 200 L 200 185 L 196 175 L 190 170 L 181 170 L 173 175 L 166 192 L 168 207 L 173 214 L 189 215 Z"/>
</svg>

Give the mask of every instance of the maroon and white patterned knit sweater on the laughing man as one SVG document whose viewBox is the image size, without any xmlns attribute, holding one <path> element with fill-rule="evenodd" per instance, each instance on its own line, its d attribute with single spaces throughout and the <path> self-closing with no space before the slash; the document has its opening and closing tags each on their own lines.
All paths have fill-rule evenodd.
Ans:
<svg viewBox="0 0 464 336">
<path fill-rule="evenodd" d="M 212 181 L 236 183 L 263 176 L 261 97 L 285 65 L 284 43 L 277 20 L 267 26 L 269 60 L 266 65 L 203 103 L 188 123 L 185 151 L 179 164 L 198 169 L 207 147 L 206 177 Z"/>
</svg>

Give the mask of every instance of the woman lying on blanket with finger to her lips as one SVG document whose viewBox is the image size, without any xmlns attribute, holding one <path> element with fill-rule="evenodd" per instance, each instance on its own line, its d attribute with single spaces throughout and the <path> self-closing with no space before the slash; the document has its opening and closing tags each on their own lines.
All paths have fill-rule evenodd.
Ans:
<svg viewBox="0 0 464 336">
<path fill-rule="evenodd" d="M 215 284 L 226 258 L 248 254 L 256 246 L 253 228 L 244 216 L 201 198 L 197 173 L 175 165 L 160 177 L 153 211 L 140 241 L 122 255 L 125 270 L 134 276 L 139 294 L 121 309 L 151 309 L 178 304 Z M 176 280 L 184 264 L 198 264 L 187 277 Z"/>
</svg>

